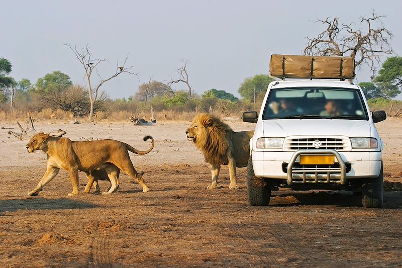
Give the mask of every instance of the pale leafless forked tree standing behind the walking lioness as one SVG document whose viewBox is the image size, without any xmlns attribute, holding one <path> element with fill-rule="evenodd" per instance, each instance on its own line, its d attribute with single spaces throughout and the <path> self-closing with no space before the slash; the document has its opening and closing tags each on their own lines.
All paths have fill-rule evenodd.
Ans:
<svg viewBox="0 0 402 268">
<path fill-rule="evenodd" d="M 117 63 L 116 72 L 114 74 L 112 74 L 111 76 L 109 76 L 108 78 L 103 79 L 99 75 L 96 67 L 97 67 L 97 65 L 99 63 L 107 61 L 106 59 L 98 59 L 98 58 L 92 59 L 92 54 L 91 54 L 91 52 L 89 52 L 89 46 L 86 46 L 85 48 L 82 48 L 81 50 L 78 50 L 77 46 L 72 47 L 69 44 L 64 44 L 64 45 L 68 46 L 71 49 L 71 51 L 74 52 L 74 54 L 77 57 L 78 61 L 82 64 L 82 67 L 85 69 L 85 77 L 86 77 L 87 84 L 88 84 L 89 103 L 90 103 L 90 111 L 89 111 L 88 120 L 92 121 L 93 107 L 94 107 L 94 104 L 95 104 L 97 96 L 98 96 L 99 88 L 105 82 L 117 77 L 121 73 L 129 73 L 129 74 L 134 74 L 134 75 L 137 75 L 137 76 L 138 76 L 138 74 L 129 71 L 131 68 L 133 68 L 133 66 L 125 67 L 126 62 L 127 62 L 127 58 L 128 58 L 128 56 L 126 56 L 126 59 L 124 60 L 124 63 L 122 65 L 119 66 L 119 62 Z M 98 82 L 94 86 L 92 86 L 92 83 L 91 83 L 91 75 L 92 75 L 93 71 L 95 71 L 97 76 L 99 77 Z"/>
</svg>

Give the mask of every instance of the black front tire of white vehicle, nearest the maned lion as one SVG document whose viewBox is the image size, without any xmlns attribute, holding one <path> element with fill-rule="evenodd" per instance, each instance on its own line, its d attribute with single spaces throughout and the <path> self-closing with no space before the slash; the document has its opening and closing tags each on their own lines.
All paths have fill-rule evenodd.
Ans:
<svg viewBox="0 0 402 268">
<path fill-rule="evenodd" d="M 251 155 L 247 164 L 247 195 L 251 206 L 268 206 L 271 198 L 269 184 L 254 175 Z"/>
</svg>

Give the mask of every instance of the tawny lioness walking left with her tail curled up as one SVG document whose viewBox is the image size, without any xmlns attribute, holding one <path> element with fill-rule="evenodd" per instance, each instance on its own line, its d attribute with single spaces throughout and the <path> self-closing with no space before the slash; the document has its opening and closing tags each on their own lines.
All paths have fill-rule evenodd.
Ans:
<svg viewBox="0 0 402 268">
<path fill-rule="evenodd" d="M 29 195 L 37 196 L 42 188 L 57 175 L 60 168 L 66 169 L 70 175 L 72 193 L 78 195 L 78 171 L 102 170 L 107 172 L 111 188 L 103 194 L 112 194 L 119 188 L 119 172 L 123 170 L 133 177 L 148 192 L 141 174 L 137 173 L 130 160 L 128 150 L 136 154 L 147 154 L 155 145 L 151 136 L 145 136 L 144 141 L 151 139 L 152 145 L 146 151 L 139 151 L 130 145 L 117 140 L 71 141 L 64 137 L 52 137 L 40 132 L 33 136 L 26 145 L 28 152 L 42 150 L 47 154 L 47 169 L 37 187 Z"/>
</svg>

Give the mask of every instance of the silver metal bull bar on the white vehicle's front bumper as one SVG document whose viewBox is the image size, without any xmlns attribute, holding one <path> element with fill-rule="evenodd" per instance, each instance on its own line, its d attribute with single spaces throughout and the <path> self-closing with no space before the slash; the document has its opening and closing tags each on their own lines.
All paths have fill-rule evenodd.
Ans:
<svg viewBox="0 0 402 268">
<path fill-rule="evenodd" d="M 303 149 L 303 150 L 298 150 L 298 151 L 294 152 L 294 154 L 290 158 L 290 162 L 287 165 L 287 180 L 286 180 L 287 185 L 291 185 L 293 183 L 293 165 L 294 165 L 294 162 L 296 161 L 297 157 L 299 155 L 301 155 L 301 154 L 332 154 L 332 155 L 334 155 L 336 157 L 336 159 L 338 160 L 339 166 L 341 168 L 340 183 L 341 183 L 341 185 L 345 184 L 345 181 L 346 181 L 346 165 L 345 165 L 345 162 L 342 160 L 341 155 L 336 150 L 334 150 L 334 149 L 311 149 L 311 150 Z M 327 171 L 327 176 L 328 176 L 328 180 L 329 180 L 330 170 L 318 170 L 318 171 L 315 171 L 316 178 L 318 176 L 318 172 L 323 172 L 323 171 Z M 304 175 L 305 174 L 306 174 L 306 171 L 304 172 Z"/>
</svg>

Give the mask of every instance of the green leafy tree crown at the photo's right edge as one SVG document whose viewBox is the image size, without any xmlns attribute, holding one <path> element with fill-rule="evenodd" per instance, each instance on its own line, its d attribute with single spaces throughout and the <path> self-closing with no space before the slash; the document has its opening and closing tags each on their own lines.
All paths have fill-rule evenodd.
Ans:
<svg viewBox="0 0 402 268">
<path fill-rule="evenodd" d="M 402 86 L 402 57 L 387 58 L 382 63 L 378 76 L 375 78 L 380 83 L 391 83 L 397 87 Z"/>
</svg>

